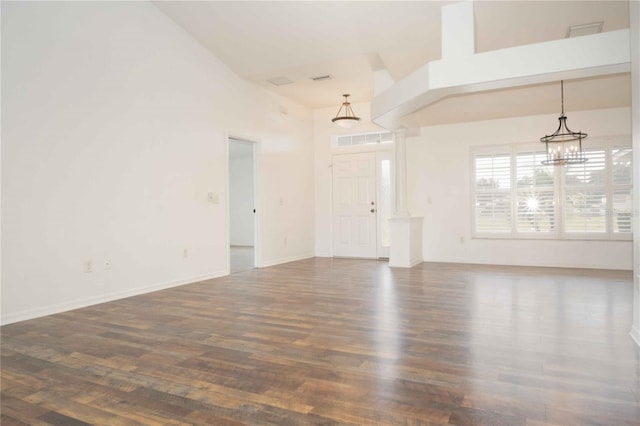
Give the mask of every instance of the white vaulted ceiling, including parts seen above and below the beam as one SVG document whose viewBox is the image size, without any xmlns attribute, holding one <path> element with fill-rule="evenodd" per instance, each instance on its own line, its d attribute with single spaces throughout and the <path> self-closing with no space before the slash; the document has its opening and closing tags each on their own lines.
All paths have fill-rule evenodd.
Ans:
<svg viewBox="0 0 640 426">
<path fill-rule="evenodd" d="M 311 108 L 373 96 L 373 71 L 399 80 L 440 59 L 446 1 L 158 1 L 154 4 L 238 75 Z M 476 1 L 476 51 L 564 38 L 567 28 L 604 21 L 629 27 L 624 1 Z M 331 75 L 332 79 L 311 78 Z M 292 84 L 274 86 L 268 79 Z M 565 83 L 565 109 L 628 106 L 628 74 Z M 559 112 L 559 85 L 444 99 L 415 114 L 439 124 Z M 356 111 L 357 112 L 357 111 Z"/>
</svg>

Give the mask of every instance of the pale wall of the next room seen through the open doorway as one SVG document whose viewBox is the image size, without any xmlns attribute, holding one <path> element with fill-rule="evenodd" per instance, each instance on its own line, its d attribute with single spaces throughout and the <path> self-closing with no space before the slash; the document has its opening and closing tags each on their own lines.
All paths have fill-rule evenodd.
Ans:
<svg viewBox="0 0 640 426">
<path fill-rule="evenodd" d="M 231 158 L 229 167 L 229 242 L 253 246 L 253 157 Z"/>
</svg>

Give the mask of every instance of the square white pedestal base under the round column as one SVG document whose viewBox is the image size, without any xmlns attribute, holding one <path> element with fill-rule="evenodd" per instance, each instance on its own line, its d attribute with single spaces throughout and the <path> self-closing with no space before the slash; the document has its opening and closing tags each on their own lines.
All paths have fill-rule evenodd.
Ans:
<svg viewBox="0 0 640 426">
<path fill-rule="evenodd" d="M 422 218 L 392 217 L 389 228 L 389 266 L 411 268 L 422 263 Z"/>
</svg>

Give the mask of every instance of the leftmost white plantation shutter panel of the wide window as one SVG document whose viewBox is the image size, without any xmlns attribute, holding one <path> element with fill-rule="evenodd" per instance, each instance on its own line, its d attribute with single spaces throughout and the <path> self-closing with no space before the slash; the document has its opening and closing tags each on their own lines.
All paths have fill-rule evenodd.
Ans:
<svg viewBox="0 0 640 426">
<path fill-rule="evenodd" d="M 480 233 L 511 232 L 511 158 L 475 158 L 475 226 Z"/>
</svg>

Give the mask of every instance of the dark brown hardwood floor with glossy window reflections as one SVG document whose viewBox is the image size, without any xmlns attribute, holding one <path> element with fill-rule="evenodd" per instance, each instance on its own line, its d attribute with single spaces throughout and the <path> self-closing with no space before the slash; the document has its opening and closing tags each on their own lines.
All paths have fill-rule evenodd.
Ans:
<svg viewBox="0 0 640 426">
<path fill-rule="evenodd" d="M 2 425 L 638 425 L 630 272 L 309 259 L 2 327 Z"/>
</svg>

